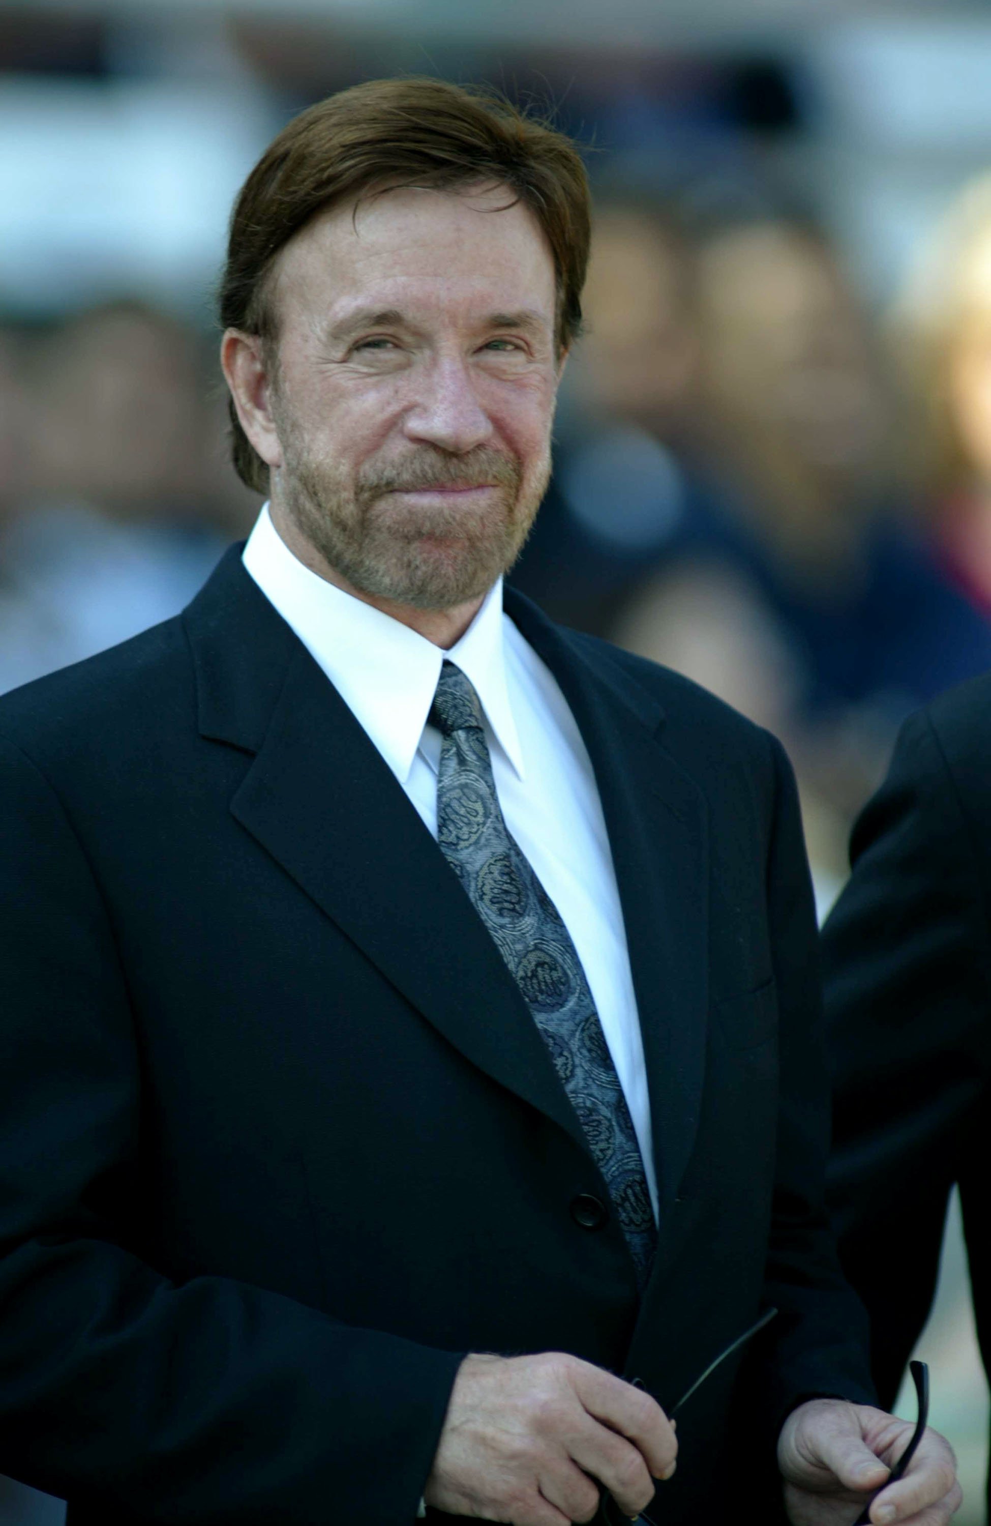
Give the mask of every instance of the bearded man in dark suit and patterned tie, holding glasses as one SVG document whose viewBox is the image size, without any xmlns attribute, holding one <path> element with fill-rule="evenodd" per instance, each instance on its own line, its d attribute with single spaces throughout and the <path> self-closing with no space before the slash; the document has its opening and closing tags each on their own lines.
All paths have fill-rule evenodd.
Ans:
<svg viewBox="0 0 991 1526">
<path fill-rule="evenodd" d="M 70 1526 L 561 1526 L 656 1479 L 695 1523 L 773 1514 L 775 1462 L 839 1526 L 904 1447 L 781 748 L 502 607 L 587 232 L 573 148 L 454 87 L 290 124 L 221 296 L 270 504 L 181 620 L 0 707 L 0 1465 Z M 872 1518 L 957 1500 L 928 1434 Z"/>
</svg>

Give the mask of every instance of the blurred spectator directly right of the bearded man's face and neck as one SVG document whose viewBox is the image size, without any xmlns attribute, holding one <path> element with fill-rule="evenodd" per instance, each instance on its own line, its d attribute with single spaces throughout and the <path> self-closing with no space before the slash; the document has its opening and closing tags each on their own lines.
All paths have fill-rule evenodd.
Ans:
<svg viewBox="0 0 991 1526">
<path fill-rule="evenodd" d="M 674 209 L 607 182 L 553 476 L 511 575 L 555 620 L 593 635 L 683 548 L 714 491 L 695 461 L 695 307 L 692 249 Z"/>
</svg>

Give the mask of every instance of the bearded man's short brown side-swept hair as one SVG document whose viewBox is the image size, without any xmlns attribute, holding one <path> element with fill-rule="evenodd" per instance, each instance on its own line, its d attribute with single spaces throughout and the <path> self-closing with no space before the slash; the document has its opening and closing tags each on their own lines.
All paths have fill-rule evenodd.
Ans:
<svg viewBox="0 0 991 1526">
<path fill-rule="evenodd" d="M 492 92 L 442 79 L 372 79 L 328 96 L 285 127 L 245 180 L 230 218 L 220 287 L 224 328 L 276 337 L 268 276 L 279 252 L 334 201 L 404 185 L 497 182 L 528 206 L 550 246 L 556 340 L 581 328 L 589 262 L 589 183 L 575 145 Z M 268 467 L 229 403 L 238 476 L 264 493 Z"/>
</svg>

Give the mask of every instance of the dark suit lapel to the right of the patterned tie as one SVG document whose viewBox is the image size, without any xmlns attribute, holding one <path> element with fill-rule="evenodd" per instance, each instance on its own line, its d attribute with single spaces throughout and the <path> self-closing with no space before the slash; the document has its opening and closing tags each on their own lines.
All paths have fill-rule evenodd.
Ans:
<svg viewBox="0 0 991 1526">
<path fill-rule="evenodd" d="M 707 1016 L 707 813 L 659 740 L 663 711 L 596 642 L 508 591 L 506 610 L 561 685 L 599 786 L 651 1099 L 662 1228 L 692 1152 Z"/>
</svg>

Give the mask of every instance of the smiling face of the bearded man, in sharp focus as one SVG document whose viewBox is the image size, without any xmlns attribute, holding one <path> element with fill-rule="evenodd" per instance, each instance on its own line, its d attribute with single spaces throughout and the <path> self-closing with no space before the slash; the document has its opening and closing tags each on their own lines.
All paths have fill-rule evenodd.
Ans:
<svg viewBox="0 0 991 1526">
<path fill-rule="evenodd" d="M 375 600 L 480 597 L 544 494 L 553 261 L 511 201 L 389 191 L 332 208 L 279 261 L 273 513 Z"/>
</svg>

